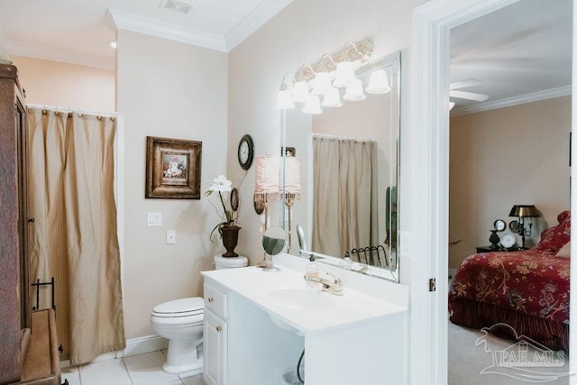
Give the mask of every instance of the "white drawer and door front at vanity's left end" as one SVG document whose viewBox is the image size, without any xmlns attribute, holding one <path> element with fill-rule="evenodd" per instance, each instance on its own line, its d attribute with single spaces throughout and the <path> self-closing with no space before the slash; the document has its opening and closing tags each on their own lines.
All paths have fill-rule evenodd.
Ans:
<svg viewBox="0 0 577 385">
<path fill-rule="evenodd" d="M 207 385 L 226 385 L 228 358 L 227 296 L 214 286 L 205 285 L 204 380 Z"/>
</svg>

